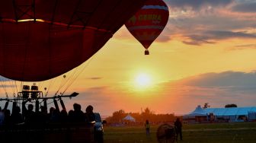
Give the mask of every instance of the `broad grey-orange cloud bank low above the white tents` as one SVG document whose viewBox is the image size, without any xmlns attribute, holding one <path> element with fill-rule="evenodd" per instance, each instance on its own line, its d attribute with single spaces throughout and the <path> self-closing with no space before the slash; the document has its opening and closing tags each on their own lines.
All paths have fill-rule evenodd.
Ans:
<svg viewBox="0 0 256 143">
<path fill-rule="evenodd" d="M 202 75 L 169 81 L 163 84 L 163 91 L 168 93 L 164 98 L 173 96 L 176 106 L 186 104 L 187 113 L 197 105 L 210 103 L 212 107 L 236 103 L 238 106 L 254 106 L 256 100 L 256 72 L 225 71 L 205 73 Z M 174 106 L 174 108 L 176 108 Z M 178 111 L 178 109 L 175 109 Z"/>
</svg>

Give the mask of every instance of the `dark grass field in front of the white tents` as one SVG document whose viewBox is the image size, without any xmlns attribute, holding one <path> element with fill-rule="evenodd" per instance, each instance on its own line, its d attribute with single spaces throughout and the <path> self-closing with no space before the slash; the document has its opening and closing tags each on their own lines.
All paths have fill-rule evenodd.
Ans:
<svg viewBox="0 0 256 143">
<path fill-rule="evenodd" d="M 156 130 L 146 137 L 143 126 L 104 127 L 105 142 L 157 142 Z M 184 125 L 182 143 L 255 143 L 256 122 L 212 123 Z"/>
</svg>

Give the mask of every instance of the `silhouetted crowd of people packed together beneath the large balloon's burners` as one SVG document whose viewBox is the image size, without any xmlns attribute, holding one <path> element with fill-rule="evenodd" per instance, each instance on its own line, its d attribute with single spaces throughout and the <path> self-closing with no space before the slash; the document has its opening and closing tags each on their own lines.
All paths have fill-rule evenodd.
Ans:
<svg viewBox="0 0 256 143">
<path fill-rule="evenodd" d="M 40 106 L 40 111 L 34 111 L 34 105 L 28 104 L 25 106 L 22 103 L 22 113 L 19 106 L 13 106 L 12 113 L 10 110 L 0 106 L 0 126 L 14 126 L 18 124 L 25 125 L 44 125 L 47 122 L 88 122 L 93 124 L 95 116 L 93 106 L 87 106 L 85 113 L 82 112 L 82 107 L 78 103 L 73 104 L 73 110 L 59 110 L 59 107 L 51 107 L 50 112 L 47 112 L 46 106 Z"/>
</svg>

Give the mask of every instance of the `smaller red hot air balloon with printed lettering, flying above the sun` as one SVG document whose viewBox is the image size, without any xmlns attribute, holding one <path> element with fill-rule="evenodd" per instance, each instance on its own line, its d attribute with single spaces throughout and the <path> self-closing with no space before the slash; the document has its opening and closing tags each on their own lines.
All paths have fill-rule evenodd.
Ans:
<svg viewBox="0 0 256 143">
<path fill-rule="evenodd" d="M 149 55 L 148 48 L 164 30 L 168 17 L 169 11 L 165 2 L 147 0 L 144 6 L 126 22 L 126 28 L 146 49 L 145 55 Z"/>
</svg>

